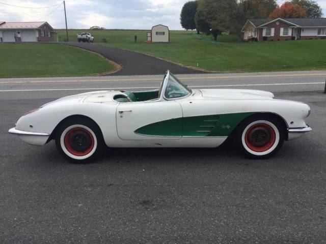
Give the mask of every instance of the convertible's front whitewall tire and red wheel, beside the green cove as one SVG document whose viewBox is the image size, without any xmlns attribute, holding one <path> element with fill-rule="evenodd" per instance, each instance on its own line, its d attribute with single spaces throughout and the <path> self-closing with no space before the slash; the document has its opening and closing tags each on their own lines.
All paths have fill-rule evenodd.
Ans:
<svg viewBox="0 0 326 244">
<path fill-rule="evenodd" d="M 277 153 L 285 139 L 282 121 L 274 116 L 255 115 L 235 131 L 236 145 L 252 159 L 265 159 Z"/>
</svg>

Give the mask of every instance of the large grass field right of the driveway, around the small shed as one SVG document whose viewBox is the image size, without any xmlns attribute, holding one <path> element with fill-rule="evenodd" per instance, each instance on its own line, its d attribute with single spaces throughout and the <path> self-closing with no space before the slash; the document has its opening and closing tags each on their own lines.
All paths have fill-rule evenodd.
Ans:
<svg viewBox="0 0 326 244">
<path fill-rule="evenodd" d="M 236 36 L 222 35 L 219 42 L 193 31 L 171 31 L 170 43 L 146 43 L 147 31 L 70 30 L 69 41 L 76 34 L 91 32 L 95 42 L 110 47 L 142 52 L 185 66 L 216 72 L 263 72 L 326 69 L 326 40 L 236 42 Z M 134 43 L 134 35 L 138 42 Z M 58 30 L 65 38 L 65 31 Z M 102 43 L 103 39 L 107 43 Z"/>
</svg>

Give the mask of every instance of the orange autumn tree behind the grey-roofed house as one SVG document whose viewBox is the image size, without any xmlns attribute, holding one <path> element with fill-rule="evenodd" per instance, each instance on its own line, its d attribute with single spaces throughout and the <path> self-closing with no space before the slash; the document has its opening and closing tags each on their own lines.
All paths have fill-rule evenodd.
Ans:
<svg viewBox="0 0 326 244">
<path fill-rule="evenodd" d="M 275 18 L 306 18 L 306 10 L 296 4 L 285 2 L 281 7 L 276 8 L 268 16 L 270 19 Z"/>
</svg>

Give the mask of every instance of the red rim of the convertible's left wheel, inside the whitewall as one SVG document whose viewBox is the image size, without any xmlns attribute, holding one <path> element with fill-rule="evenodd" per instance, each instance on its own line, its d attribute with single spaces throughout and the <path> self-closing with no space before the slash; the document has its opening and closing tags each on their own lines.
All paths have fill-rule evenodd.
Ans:
<svg viewBox="0 0 326 244">
<path fill-rule="evenodd" d="M 66 133 L 64 143 L 72 155 L 85 156 L 94 148 L 94 137 L 88 130 L 76 127 Z"/>
</svg>

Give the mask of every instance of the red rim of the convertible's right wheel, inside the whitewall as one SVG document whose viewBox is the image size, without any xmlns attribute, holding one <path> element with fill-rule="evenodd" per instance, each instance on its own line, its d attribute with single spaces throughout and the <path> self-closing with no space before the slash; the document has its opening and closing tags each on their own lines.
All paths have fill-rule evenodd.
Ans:
<svg viewBox="0 0 326 244">
<path fill-rule="evenodd" d="M 251 126 L 244 135 L 244 141 L 253 151 L 266 151 L 270 149 L 276 140 L 274 129 L 267 124 Z"/>
</svg>

